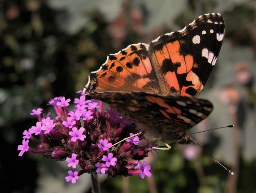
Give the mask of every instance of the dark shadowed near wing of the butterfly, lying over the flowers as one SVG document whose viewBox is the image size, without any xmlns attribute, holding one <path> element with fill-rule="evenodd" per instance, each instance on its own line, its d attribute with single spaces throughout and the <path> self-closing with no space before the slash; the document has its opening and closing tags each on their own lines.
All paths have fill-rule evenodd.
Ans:
<svg viewBox="0 0 256 193">
<path fill-rule="evenodd" d="M 179 134 L 206 118 L 213 109 L 208 100 L 145 92 L 94 92 L 121 115 L 140 123 L 155 137 L 179 140 Z"/>
</svg>

